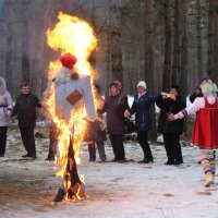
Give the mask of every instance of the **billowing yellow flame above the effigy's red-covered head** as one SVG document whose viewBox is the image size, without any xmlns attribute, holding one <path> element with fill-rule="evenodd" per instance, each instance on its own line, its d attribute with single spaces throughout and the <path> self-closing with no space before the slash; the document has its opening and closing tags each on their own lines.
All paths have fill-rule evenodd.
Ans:
<svg viewBox="0 0 218 218">
<path fill-rule="evenodd" d="M 48 46 L 62 53 L 71 52 L 77 58 L 77 72 L 90 75 L 95 71 L 87 59 L 97 47 L 97 39 L 90 25 L 76 17 L 59 12 L 59 22 L 47 31 Z M 52 63 L 57 65 L 56 63 Z M 60 65 L 59 65 L 60 66 Z"/>
</svg>

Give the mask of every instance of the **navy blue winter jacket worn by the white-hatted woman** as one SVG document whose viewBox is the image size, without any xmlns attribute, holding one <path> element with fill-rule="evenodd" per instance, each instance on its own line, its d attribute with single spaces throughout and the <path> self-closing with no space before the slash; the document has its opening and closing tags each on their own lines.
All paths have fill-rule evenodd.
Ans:
<svg viewBox="0 0 218 218">
<path fill-rule="evenodd" d="M 130 113 L 135 113 L 135 129 L 140 131 L 148 131 L 152 128 L 152 114 L 150 114 L 150 105 L 155 102 L 157 96 L 152 96 L 146 93 L 138 98 L 138 95 L 134 97 L 132 108 Z"/>
</svg>

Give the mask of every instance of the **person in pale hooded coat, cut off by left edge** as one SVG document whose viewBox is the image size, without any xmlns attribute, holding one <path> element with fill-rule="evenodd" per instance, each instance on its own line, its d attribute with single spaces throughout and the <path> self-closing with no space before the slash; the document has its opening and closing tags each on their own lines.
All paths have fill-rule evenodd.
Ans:
<svg viewBox="0 0 218 218">
<path fill-rule="evenodd" d="M 5 153 L 7 132 L 11 124 L 12 109 L 11 94 L 7 90 L 4 78 L 0 77 L 0 157 L 3 157 Z"/>
</svg>

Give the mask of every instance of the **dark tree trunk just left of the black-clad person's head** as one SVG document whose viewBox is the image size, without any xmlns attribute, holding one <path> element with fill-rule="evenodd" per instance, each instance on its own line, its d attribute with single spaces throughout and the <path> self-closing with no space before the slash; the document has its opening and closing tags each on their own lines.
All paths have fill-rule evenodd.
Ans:
<svg viewBox="0 0 218 218">
<path fill-rule="evenodd" d="M 171 83 L 172 65 L 172 31 L 171 31 L 171 10 L 170 0 L 165 1 L 165 62 L 162 75 L 162 89 L 168 90 Z"/>
</svg>

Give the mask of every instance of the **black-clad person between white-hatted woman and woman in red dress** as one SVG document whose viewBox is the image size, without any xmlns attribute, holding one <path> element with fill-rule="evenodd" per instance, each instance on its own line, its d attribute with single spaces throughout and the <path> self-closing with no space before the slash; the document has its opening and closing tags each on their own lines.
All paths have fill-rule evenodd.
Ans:
<svg viewBox="0 0 218 218">
<path fill-rule="evenodd" d="M 183 131 L 183 121 L 168 121 L 170 112 L 178 113 L 185 108 L 185 102 L 179 96 L 179 86 L 172 85 L 169 94 L 162 94 L 156 101 L 160 108 L 158 132 L 164 134 L 165 148 L 168 161 L 166 165 L 180 165 L 183 162 L 182 150 L 180 146 L 180 135 Z"/>
</svg>

